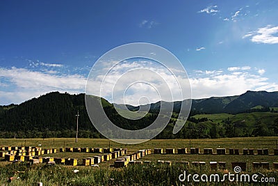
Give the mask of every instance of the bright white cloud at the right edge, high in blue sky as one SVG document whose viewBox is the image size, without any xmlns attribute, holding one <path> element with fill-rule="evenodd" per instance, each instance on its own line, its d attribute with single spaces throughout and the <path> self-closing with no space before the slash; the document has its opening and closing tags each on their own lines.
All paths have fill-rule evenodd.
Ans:
<svg viewBox="0 0 278 186">
<path fill-rule="evenodd" d="M 244 38 L 250 38 L 252 42 L 257 43 L 266 43 L 266 44 L 277 44 L 278 43 L 278 36 L 275 34 L 278 33 L 278 26 L 265 26 L 263 28 L 259 28 L 257 31 L 253 31 L 247 33 Z"/>
</svg>

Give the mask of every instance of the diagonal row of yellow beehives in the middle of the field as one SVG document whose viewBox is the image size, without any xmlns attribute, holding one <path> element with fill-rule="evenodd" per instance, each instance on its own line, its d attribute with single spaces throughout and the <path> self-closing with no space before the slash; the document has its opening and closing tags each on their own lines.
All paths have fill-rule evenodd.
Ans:
<svg viewBox="0 0 278 186">
<path fill-rule="evenodd" d="M 136 161 L 140 159 L 141 157 L 144 157 L 145 155 L 149 155 L 152 153 L 151 149 L 143 149 L 143 150 L 138 150 L 136 153 L 132 153 L 130 155 L 126 155 L 122 158 L 118 158 L 114 162 L 115 168 L 120 168 L 127 166 L 128 164 L 142 164 L 141 161 Z"/>
</svg>

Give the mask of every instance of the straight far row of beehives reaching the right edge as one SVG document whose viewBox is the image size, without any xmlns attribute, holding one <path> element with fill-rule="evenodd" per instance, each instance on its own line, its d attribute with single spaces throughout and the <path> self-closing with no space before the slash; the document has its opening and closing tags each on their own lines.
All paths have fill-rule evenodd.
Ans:
<svg viewBox="0 0 278 186">
<path fill-rule="evenodd" d="M 243 155 L 269 155 L 268 148 L 256 149 L 257 153 L 254 153 L 254 148 L 243 148 Z M 176 153 L 174 148 L 166 148 L 166 154 Z M 178 154 L 200 154 L 199 148 L 190 148 L 188 153 L 187 148 L 178 148 Z M 154 154 L 163 154 L 163 148 L 154 148 Z M 213 148 L 204 148 L 204 155 L 213 155 Z M 226 155 L 226 148 L 216 148 L 217 155 Z M 238 148 L 229 148 L 229 155 L 239 155 Z M 278 149 L 274 149 L 274 155 L 278 155 Z"/>
</svg>

